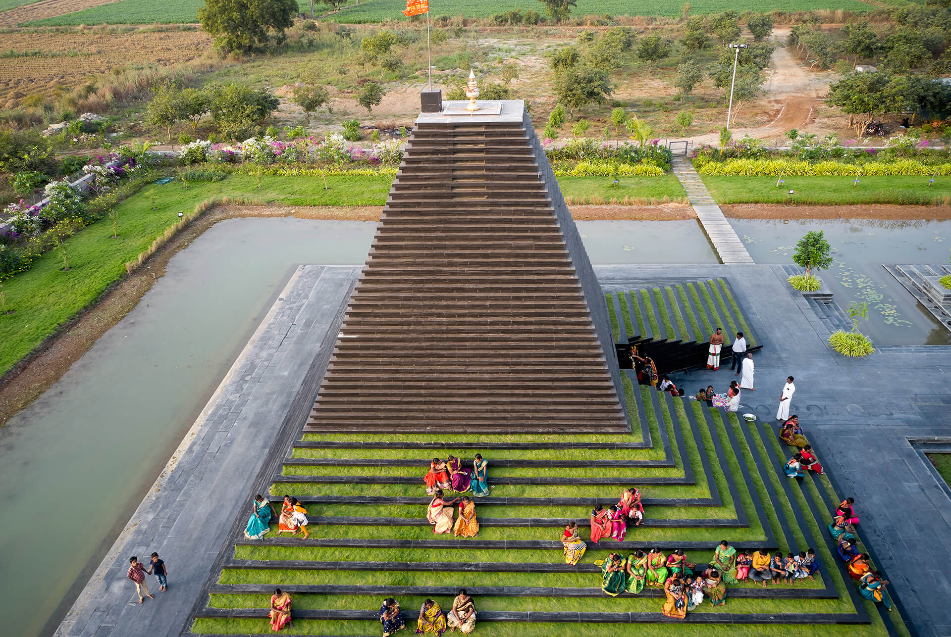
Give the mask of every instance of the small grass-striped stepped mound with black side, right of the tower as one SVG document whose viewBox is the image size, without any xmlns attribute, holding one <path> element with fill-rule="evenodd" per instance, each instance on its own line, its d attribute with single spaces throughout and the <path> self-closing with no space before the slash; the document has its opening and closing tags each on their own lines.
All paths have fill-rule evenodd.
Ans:
<svg viewBox="0 0 951 637">
<path fill-rule="evenodd" d="M 608 311 L 622 368 L 631 368 L 631 345 L 653 358 L 660 374 L 706 364 L 709 337 L 723 328 L 720 364 L 729 366 L 730 343 L 737 332 L 747 338 L 747 352 L 762 349 L 749 328 L 725 279 L 678 280 L 654 287 L 612 292 Z"/>
</svg>

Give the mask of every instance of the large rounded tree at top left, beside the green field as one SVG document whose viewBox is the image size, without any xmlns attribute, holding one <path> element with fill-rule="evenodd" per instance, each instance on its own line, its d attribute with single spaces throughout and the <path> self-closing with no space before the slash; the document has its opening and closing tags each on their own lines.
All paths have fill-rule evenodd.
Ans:
<svg viewBox="0 0 951 637">
<path fill-rule="evenodd" d="M 283 36 L 297 12 L 297 0 L 205 0 L 198 19 L 215 46 L 250 51 L 267 42 L 271 29 Z"/>
</svg>

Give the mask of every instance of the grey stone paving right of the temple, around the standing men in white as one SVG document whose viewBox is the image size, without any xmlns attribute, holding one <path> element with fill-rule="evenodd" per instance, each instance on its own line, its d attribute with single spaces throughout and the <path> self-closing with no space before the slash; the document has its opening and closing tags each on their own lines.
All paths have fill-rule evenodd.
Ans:
<svg viewBox="0 0 951 637">
<path fill-rule="evenodd" d="M 753 358 L 755 392 L 744 391 L 741 414 L 776 422 L 786 376 L 795 377 L 790 414 L 836 487 L 855 498 L 859 531 L 922 637 L 951 635 L 951 495 L 909 438 L 951 435 L 948 387 L 951 348 L 888 347 L 869 357 L 840 356 L 828 329 L 782 268 L 767 265 L 604 265 L 595 274 L 605 292 L 674 279 L 728 280 L 750 329 L 764 345 Z M 728 330 L 725 329 L 725 332 Z M 729 343 L 732 339 L 728 334 Z M 726 392 L 728 345 L 719 371 L 670 375 L 695 394 Z"/>
</svg>

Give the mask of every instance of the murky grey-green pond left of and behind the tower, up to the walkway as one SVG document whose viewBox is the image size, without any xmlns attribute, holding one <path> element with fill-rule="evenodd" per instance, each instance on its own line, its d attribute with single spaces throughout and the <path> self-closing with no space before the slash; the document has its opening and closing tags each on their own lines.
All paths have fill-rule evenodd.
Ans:
<svg viewBox="0 0 951 637">
<path fill-rule="evenodd" d="M 597 263 L 716 262 L 696 222 L 579 222 Z M 376 223 L 220 222 L 0 430 L 4 634 L 50 634 L 301 263 L 366 260 Z M 13 575 L 15 573 L 15 576 Z M 29 608 L 29 612 L 24 612 Z"/>
</svg>

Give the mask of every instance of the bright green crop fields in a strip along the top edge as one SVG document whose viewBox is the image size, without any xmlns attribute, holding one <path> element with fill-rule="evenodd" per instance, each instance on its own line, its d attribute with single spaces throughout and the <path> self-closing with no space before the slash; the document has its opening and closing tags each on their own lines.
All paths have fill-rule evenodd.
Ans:
<svg viewBox="0 0 951 637">
<path fill-rule="evenodd" d="M 14 7 L 23 4 L 22 0 L 0 0 L 0 7 Z M 298 0 L 301 12 L 310 11 L 308 0 Z M 8 7 L 9 5 L 9 7 Z M 168 0 L 157 4 L 151 0 L 122 0 L 110 5 L 101 5 L 91 9 L 57 15 L 44 20 L 28 23 L 28 26 L 61 25 L 98 25 L 98 24 L 152 24 L 195 22 L 195 13 L 204 6 L 204 0 Z M 658 4 L 646 5 L 636 0 L 578 0 L 574 15 L 660 15 L 674 16 L 683 12 L 683 0 L 662 0 Z M 377 23 L 384 20 L 405 19 L 402 10 L 405 0 L 363 0 L 359 5 L 351 4 L 333 15 L 333 19 L 345 23 Z M 318 12 L 326 10 L 323 4 Z M 519 0 L 434 0 L 430 10 L 437 15 L 464 15 L 469 18 L 491 17 L 496 13 L 520 9 L 544 11 L 540 2 Z M 728 0 L 696 0 L 690 3 L 690 12 L 694 14 L 718 13 L 723 10 L 787 10 L 803 11 L 812 9 L 845 9 L 853 11 L 871 10 L 871 5 L 857 0 L 741 0 L 737 5 Z"/>
</svg>

